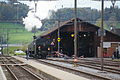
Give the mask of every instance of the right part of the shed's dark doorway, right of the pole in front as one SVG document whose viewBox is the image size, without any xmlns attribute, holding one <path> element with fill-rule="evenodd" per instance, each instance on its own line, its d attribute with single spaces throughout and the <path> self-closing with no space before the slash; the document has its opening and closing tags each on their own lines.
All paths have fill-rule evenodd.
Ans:
<svg viewBox="0 0 120 80">
<path fill-rule="evenodd" d="M 94 33 L 78 33 L 78 57 L 94 57 Z"/>
</svg>

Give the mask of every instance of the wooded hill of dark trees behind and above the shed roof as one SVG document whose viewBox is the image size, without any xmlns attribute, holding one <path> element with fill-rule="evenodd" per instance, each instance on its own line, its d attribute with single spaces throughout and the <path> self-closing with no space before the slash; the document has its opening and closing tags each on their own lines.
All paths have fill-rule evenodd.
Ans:
<svg viewBox="0 0 120 80">
<path fill-rule="evenodd" d="M 105 28 L 109 30 L 110 25 L 117 25 L 118 23 L 116 21 L 120 21 L 120 9 L 118 7 L 105 8 L 104 12 L 104 24 Z M 77 17 L 85 20 L 87 22 L 90 22 L 92 24 L 99 24 L 100 26 L 100 18 L 101 18 L 101 11 L 97 9 L 91 9 L 91 8 L 78 8 L 77 9 Z M 66 21 L 71 18 L 74 18 L 74 9 L 73 8 L 63 8 L 58 9 L 57 11 L 49 11 L 49 17 L 42 20 L 43 26 L 41 27 L 42 30 L 49 29 L 53 26 L 55 26 L 56 21 L 60 20 Z M 114 20 L 114 24 L 110 20 Z M 97 23 L 96 23 L 97 22 Z M 117 26 L 119 27 L 119 26 Z"/>
</svg>

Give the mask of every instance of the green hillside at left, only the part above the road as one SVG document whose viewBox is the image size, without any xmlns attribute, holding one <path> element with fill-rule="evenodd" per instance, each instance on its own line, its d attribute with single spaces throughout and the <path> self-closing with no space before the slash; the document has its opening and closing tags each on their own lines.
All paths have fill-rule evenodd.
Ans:
<svg viewBox="0 0 120 80">
<path fill-rule="evenodd" d="M 34 33 L 28 32 L 23 25 L 15 23 L 0 23 L 0 34 L 3 37 L 3 43 L 6 43 L 8 32 L 9 44 L 27 44 L 33 40 Z M 37 32 L 40 35 L 42 32 Z"/>
</svg>

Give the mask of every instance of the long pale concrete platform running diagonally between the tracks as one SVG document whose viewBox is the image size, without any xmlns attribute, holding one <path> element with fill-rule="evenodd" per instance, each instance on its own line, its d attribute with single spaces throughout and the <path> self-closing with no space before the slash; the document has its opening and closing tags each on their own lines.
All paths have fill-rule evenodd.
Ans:
<svg viewBox="0 0 120 80">
<path fill-rule="evenodd" d="M 65 72 L 63 70 L 59 70 L 44 64 L 40 64 L 38 62 L 35 62 L 34 60 L 26 60 L 25 58 L 22 57 L 18 57 L 18 56 L 13 56 L 14 58 L 24 62 L 25 64 L 31 65 L 47 74 L 50 74 L 60 80 L 89 80 L 87 78 L 69 73 L 69 72 Z"/>
</svg>

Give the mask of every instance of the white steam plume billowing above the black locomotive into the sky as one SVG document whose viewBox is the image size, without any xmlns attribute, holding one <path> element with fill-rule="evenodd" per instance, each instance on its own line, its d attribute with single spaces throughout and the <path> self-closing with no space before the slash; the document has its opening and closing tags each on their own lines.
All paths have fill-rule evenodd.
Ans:
<svg viewBox="0 0 120 80">
<path fill-rule="evenodd" d="M 28 31 L 31 31 L 33 27 L 41 28 L 41 20 L 48 16 L 49 10 L 55 10 L 56 2 L 50 1 L 40 1 L 37 3 L 37 11 L 35 13 L 34 2 L 26 3 L 30 7 L 30 11 L 27 14 L 27 17 L 23 19 L 23 24 Z"/>
</svg>

